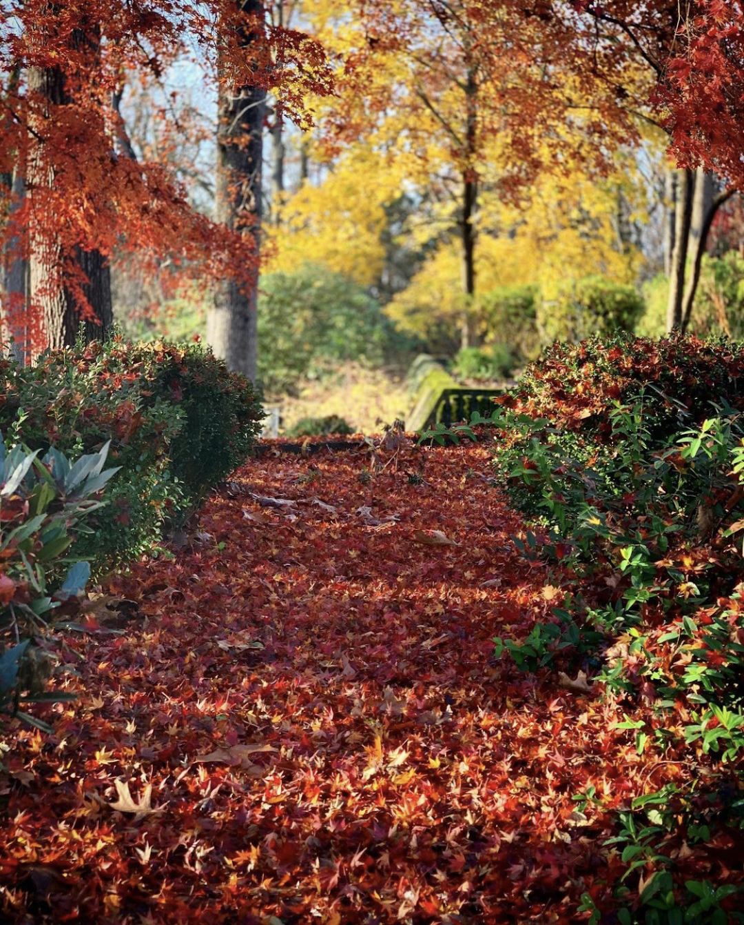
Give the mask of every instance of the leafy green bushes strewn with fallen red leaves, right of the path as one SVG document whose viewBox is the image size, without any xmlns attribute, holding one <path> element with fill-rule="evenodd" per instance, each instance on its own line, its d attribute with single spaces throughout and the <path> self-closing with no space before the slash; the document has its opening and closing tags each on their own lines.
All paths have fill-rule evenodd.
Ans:
<svg viewBox="0 0 744 925">
<path fill-rule="evenodd" d="M 532 524 L 515 542 L 594 588 L 496 654 L 521 671 L 582 665 L 626 709 L 653 703 L 653 721 L 616 728 L 694 768 L 688 788 L 638 796 L 607 843 L 623 882 L 642 878 L 618 914 L 630 925 L 741 920 L 737 886 L 680 882 L 673 858 L 744 829 L 743 362 L 726 341 L 556 346 L 492 421 L 496 477 Z"/>
</svg>

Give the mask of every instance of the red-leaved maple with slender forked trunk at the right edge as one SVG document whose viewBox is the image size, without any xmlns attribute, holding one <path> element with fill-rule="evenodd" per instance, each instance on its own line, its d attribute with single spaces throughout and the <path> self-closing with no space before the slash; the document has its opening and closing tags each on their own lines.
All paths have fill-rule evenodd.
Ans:
<svg viewBox="0 0 744 925">
<path fill-rule="evenodd" d="M 685 330 L 714 217 L 744 188 L 741 5 L 580 0 L 543 6 L 545 28 L 562 35 L 566 67 L 587 101 L 597 105 L 616 95 L 631 115 L 669 138 L 676 166 L 667 184 L 673 206 L 666 231 L 667 328 Z M 712 190 L 712 175 L 721 178 L 718 191 Z"/>
</svg>

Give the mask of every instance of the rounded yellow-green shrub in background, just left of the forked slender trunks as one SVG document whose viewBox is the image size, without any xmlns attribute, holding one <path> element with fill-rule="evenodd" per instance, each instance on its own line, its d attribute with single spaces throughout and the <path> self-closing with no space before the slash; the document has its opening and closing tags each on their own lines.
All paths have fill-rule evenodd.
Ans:
<svg viewBox="0 0 744 925">
<path fill-rule="evenodd" d="M 604 277 L 584 277 L 555 302 L 540 303 L 537 325 L 543 343 L 576 342 L 592 335 L 632 331 L 644 308 L 643 299 L 632 286 Z"/>
</svg>

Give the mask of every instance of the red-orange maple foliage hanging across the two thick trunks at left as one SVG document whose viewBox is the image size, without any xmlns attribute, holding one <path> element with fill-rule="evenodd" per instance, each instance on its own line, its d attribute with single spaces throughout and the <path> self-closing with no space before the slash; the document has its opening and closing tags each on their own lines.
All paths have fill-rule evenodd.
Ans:
<svg viewBox="0 0 744 925">
<path fill-rule="evenodd" d="M 236 0 L 28 0 L 0 12 L 0 215 L 13 196 L 7 178 L 26 187 L 0 244 L 16 240 L 18 252 L 28 253 L 54 242 L 50 285 L 64 280 L 83 311 L 78 248 L 106 258 L 116 249 L 145 259 L 169 255 L 201 277 L 245 278 L 254 270 L 252 241 L 194 210 L 162 159 L 135 160 L 117 143 L 123 125 L 114 104 L 124 80 L 162 80 L 181 56 L 199 56 L 216 81 L 219 48 L 220 80 L 272 89 L 287 115 L 306 123 L 305 95 L 330 88 L 323 49 L 299 31 L 262 22 L 250 28 L 262 31 L 263 41 L 246 48 L 242 17 Z M 43 81 L 40 88 L 44 73 L 63 88 L 56 98 Z M 172 118 L 165 128 L 177 140 L 183 127 Z M 18 183 L 16 189 L 18 195 Z"/>
</svg>

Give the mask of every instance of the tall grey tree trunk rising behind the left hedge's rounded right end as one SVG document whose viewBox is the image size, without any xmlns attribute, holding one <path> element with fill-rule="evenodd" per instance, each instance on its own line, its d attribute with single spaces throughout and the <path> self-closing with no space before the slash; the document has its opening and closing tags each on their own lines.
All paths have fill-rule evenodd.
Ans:
<svg viewBox="0 0 744 925">
<path fill-rule="evenodd" d="M 263 16 L 261 0 L 237 0 L 248 16 Z M 241 28 L 239 42 L 248 47 L 260 41 L 249 26 Z M 224 65 L 218 62 L 218 68 Z M 262 220 L 262 144 L 266 93 L 258 87 L 226 86 L 224 71 L 218 102 L 216 217 L 228 228 L 252 235 L 258 257 Z M 225 279 L 214 292 L 207 316 L 207 339 L 214 353 L 230 369 L 255 382 L 258 325 L 258 269 L 247 288 Z"/>
</svg>

